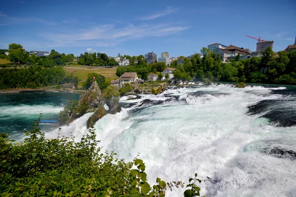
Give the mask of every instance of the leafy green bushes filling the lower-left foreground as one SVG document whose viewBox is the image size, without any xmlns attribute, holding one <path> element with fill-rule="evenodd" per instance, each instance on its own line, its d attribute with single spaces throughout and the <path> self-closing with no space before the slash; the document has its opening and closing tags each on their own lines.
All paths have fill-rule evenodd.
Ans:
<svg viewBox="0 0 296 197">
<path fill-rule="evenodd" d="M 143 161 L 125 162 L 113 152 L 102 153 L 94 129 L 79 142 L 60 136 L 60 129 L 56 139 L 46 139 L 39 120 L 19 143 L 0 133 L 1 196 L 164 197 L 167 190 L 184 187 L 181 181 L 157 178 L 151 188 Z M 199 196 L 196 176 L 194 183 L 189 179 L 185 197 Z"/>
</svg>

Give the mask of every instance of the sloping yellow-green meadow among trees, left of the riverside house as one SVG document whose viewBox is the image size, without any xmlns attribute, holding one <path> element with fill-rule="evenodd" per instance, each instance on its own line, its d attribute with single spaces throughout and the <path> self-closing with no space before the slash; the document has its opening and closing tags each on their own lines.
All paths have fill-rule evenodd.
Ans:
<svg viewBox="0 0 296 197">
<path fill-rule="evenodd" d="M 109 81 L 116 76 L 116 68 L 104 68 L 104 67 L 84 67 L 84 66 L 71 66 L 64 67 L 66 72 L 73 72 L 74 76 L 77 76 L 82 82 L 87 79 L 89 73 L 98 73 L 106 77 L 106 81 Z M 79 84 L 78 84 L 79 85 Z"/>
</svg>

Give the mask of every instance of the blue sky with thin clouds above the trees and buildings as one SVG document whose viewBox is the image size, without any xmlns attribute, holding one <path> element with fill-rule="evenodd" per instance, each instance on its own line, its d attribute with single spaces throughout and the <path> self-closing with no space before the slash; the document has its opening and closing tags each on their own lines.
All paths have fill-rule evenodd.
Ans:
<svg viewBox="0 0 296 197">
<path fill-rule="evenodd" d="M 219 42 L 256 50 L 261 36 L 273 50 L 294 44 L 295 0 L 3 0 L 0 48 L 55 49 L 108 56 L 199 53 Z"/>
</svg>

